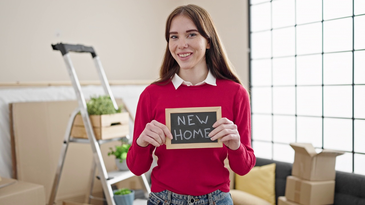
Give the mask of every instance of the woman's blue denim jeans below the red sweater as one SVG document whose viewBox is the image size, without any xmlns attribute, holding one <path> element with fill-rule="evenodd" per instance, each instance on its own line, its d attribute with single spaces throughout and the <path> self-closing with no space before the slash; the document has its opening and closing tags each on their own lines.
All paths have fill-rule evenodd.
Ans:
<svg viewBox="0 0 365 205">
<path fill-rule="evenodd" d="M 231 194 L 216 190 L 201 196 L 175 194 L 168 190 L 151 192 L 147 205 L 233 205 Z"/>
</svg>

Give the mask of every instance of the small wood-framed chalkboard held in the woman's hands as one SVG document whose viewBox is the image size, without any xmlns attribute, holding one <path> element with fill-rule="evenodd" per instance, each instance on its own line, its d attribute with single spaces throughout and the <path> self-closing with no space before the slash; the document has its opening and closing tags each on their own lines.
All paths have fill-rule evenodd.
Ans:
<svg viewBox="0 0 365 205">
<path fill-rule="evenodd" d="M 212 141 L 208 134 L 212 125 L 222 118 L 221 107 L 168 108 L 166 126 L 173 139 L 166 139 L 166 149 L 223 147 L 219 140 Z"/>
</svg>

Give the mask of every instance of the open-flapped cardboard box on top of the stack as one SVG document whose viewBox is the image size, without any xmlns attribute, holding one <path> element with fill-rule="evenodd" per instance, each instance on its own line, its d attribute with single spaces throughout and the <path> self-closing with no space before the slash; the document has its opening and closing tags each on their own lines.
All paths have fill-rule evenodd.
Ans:
<svg viewBox="0 0 365 205">
<path fill-rule="evenodd" d="M 335 180 L 336 156 L 342 151 L 323 150 L 316 153 L 312 144 L 291 143 L 295 150 L 292 175 L 307 180 Z"/>
</svg>

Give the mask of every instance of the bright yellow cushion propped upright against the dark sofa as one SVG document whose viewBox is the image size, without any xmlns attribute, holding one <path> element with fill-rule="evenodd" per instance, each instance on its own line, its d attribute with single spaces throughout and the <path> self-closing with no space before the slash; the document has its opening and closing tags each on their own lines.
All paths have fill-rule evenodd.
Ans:
<svg viewBox="0 0 365 205">
<path fill-rule="evenodd" d="M 275 163 L 255 166 L 244 176 L 236 174 L 235 189 L 253 194 L 275 205 L 275 167 Z"/>
</svg>

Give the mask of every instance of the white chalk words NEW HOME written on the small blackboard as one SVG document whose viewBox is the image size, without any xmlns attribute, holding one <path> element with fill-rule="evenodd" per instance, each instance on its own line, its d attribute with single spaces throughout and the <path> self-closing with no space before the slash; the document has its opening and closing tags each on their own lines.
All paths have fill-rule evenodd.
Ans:
<svg viewBox="0 0 365 205">
<path fill-rule="evenodd" d="M 192 123 L 191 121 L 193 120 L 193 118 L 192 117 L 194 117 L 194 115 L 188 115 L 187 116 L 188 117 L 188 120 L 187 120 L 187 123 L 188 123 L 188 125 L 195 125 L 195 123 Z M 198 116 L 196 116 L 195 115 L 195 117 L 197 118 L 197 120 L 199 121 L 199 123 L 200 124 L 207 124 L 207 121 L 208 121 L 208 116 L 207 116 L 207 118 L 205 119 L 205 121 L 204 120 L 200 120 L 199 119 L 199 117 Z M 181 117 L 180 116 L 177 116 L 177 125 L 180 125 L 180 123 L 181 124 L 184 124 L 184 125 L 186 125 L 186 122 L 185 122 L 185 116 L 183 116 L 183 119 L 181 119 Z M 197 136 L 201 136 L 202 138 L 210 138 L 209 136 L 208 136 L 208 134 L 209 134 L 209 130 L 210 130 L 211 128 L 205 128 L 205 129 L 203 129 L 204 130 L 204 135 L 203 135 L 203 131 L 201 131 L 201 129 L 198 129 L 198 130 L 196 130 L 196 129 L 193 129 L 192 131 L 190 131 L 190 130 L 186 130 L 184 133 L 183 132 L 181 132 L 181 129 L 179 129 L 178 131 L 177 131 L 177 133 L 176 133 L 176 129 L 174 129 L 174 134 L 175 134 L 175 140 L 177 140 L 177 137 L 180 137 L 181 138 L 181 140 L 183 140 L 183 138 L 184 139 L 190 139 L 190 138 L 195 138 L 195 136 L 197 135 Z M 180 133 L 180 134 L 179 134 Z"/>
</svg>

